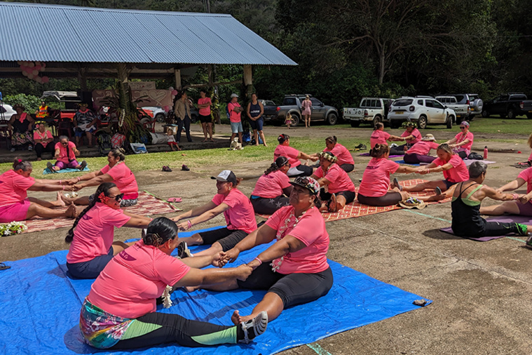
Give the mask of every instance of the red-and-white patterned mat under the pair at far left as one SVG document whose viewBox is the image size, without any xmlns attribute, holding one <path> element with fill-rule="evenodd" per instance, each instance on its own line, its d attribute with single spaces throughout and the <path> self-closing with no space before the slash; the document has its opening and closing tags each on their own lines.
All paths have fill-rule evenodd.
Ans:
<svg viewBox="0 0 532 355">
<path fill-rule="evenodd" d="M 64 207 L 63 209 L 67 209 Z M 150 194 L 149 192 L 139 192 L 139 202 L 135 206 L 125 207 L 124 210 L 135 213 L 137 215 L 163 215 L 165 213 L 172 213 L 181 208 L 177 208 L 167 201 L 158 199 L 158 197 Z M 72 227 L 74 220 L 71 218 L 53 218 L 44 219 L 36 217 L 32 220 L 23 221 L 27 225 L 28 229 L 22 233 L 47 231 L 50 229 Z"/>
</svg>

